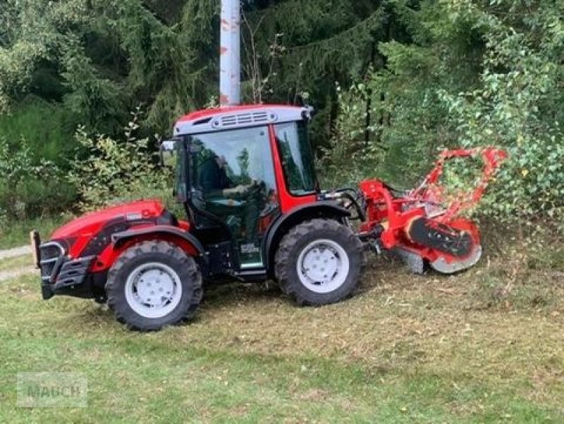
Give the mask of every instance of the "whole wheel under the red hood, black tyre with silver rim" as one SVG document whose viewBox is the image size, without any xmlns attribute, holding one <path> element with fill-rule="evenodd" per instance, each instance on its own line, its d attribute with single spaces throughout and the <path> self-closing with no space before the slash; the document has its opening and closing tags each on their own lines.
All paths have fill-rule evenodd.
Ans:
<svg viewBox="0 0 564 424">
<path fill-rule="evenodd" d="M 194 316 L 202 275 L 193 258 L 162 241 L 135 244 L 108 273 L 108 306 L 132 330 L 160 330 Z"/>
</svg>

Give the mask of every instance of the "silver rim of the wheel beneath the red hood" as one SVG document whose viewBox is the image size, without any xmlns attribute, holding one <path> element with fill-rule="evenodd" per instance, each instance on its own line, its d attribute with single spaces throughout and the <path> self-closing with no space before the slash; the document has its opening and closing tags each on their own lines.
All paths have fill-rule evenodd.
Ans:
<svg viewBox="0 0 564 424">
<path fill-rule="evenodd" d="M 144 263 L 125 282 L 130 308 L 145 318 L 163 318 L 174 311 L 182 298 L 182 283 L 175 270 L 164 263 Z"/>
</svg>

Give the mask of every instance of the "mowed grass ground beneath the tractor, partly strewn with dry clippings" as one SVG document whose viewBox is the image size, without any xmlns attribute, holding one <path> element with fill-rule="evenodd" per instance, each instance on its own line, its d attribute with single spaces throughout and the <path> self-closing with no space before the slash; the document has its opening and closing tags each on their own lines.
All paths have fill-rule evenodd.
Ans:
<svg viewBox="0 0 564 424">
<path fill-rule="evenodd" d="M 92 301 L 42 301 L 35 277 L 0 283 L 0 421 L 562 423 L 564 280 L 515 267 L 379 260 L 323 308 L 220 286 L 194 322 L 149 334 Z M 87 408 L 17 408 L 19 371 L 86 373 Z"/>
</svg>

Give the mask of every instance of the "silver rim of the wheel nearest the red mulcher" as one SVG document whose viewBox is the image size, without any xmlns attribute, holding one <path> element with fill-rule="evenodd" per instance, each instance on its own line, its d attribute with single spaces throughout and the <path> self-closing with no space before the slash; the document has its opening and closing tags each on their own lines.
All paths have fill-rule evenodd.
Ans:
<svg viewBox="0 0 564 424">
<path fill-rule="evenodd" d="M 341 287 L 350 269 L 348 254 L 329 239 L 309 243 L 298 256 L 298 278 L 315 293 L 330 293 Z"/>
</svg>

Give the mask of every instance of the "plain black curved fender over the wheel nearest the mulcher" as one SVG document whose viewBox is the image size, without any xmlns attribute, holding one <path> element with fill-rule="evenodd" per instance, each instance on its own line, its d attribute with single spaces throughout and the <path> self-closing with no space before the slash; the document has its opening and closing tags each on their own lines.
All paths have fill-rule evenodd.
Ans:
<svg viewBox="0 0 564 424">
<path fill-rule="evenodd" d="M 274 255 L 282 237 L 290 228 L 299 225 L 305 220 L 314 218 L 348 218 L 350 211 L 339 206 L 336 201 L 316 201 L 312 204 L 298 206 L 280 216 L 271 224 L 266 232 L 262 246 L 263 258 L 265 258 L 266 271 L 270 278 L 274 278 Z"/>
</svg>

